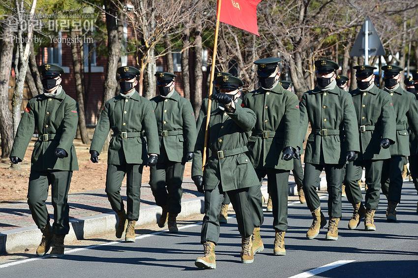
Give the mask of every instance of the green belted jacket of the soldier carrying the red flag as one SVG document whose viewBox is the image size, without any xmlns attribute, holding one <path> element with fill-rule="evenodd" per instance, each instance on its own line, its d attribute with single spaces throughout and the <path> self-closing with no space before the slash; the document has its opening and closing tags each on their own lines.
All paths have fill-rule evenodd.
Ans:
<svg viewBox="0 0 418 278">
<path fill-rule="evenodd" d="M 219 183 L 224 192 L 260 184 L 249 158 L 245 155 L 256 116 L 253 111 L 242 108 L 240 103 L 238 99 L 234 113 L 218 108 L 210 114 L 208 148 L 212 155 L 206 159 L 205 174 L 202 171 L 205 126 L 202 125 L 199 130 L 192 176 L 204 176 L 205 190 L 212 190 Z"/>
</svg>

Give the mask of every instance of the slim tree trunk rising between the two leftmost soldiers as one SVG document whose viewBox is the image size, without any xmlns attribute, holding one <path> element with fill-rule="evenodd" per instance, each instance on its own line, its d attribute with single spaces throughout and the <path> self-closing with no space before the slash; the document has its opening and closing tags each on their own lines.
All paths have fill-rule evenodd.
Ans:
<svg viewBox="0 0 418 278">
<path fill-rule="evenodd" d="M 74 30 L 71 30 L 71 37 L 75 38 L 76 36 L 77 33 Z M 83 144 L 90 144 L 89 134 L 86 128 L 86 117 L 84 112 L 84 84 L 82 83 L 81 78 L 81 76 L 84 75 L 84 72 L 81 72 L 77 43 L 71 44 L 71 58 L 73 60 L 75 90 L 80 110 L 80 113 L 78 115 L 78 126 L 80 128 L 80 136 Z"/>
</svg>

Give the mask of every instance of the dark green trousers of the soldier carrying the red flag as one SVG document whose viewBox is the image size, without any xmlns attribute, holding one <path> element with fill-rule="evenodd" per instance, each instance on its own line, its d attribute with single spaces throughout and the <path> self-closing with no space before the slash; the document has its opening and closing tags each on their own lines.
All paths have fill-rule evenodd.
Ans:
<svg viewBox="0 0 418 278">
<path fill-rule="evenodd" d="M 254 224 L 251 218 L 251 211 L 248 206 L 248 187 L 228 191 L 231 203 L 234 206 L 238 222 L 239 234 L 244 237 L 250 236 L 254 231 Z M 205 216 L 202 223 L 201 243 L 211 241 L 215 245 L 219 240 L 219 211 L 225 192 L 222 185 L 215 189 L 205 190 Z"/>
</svg>

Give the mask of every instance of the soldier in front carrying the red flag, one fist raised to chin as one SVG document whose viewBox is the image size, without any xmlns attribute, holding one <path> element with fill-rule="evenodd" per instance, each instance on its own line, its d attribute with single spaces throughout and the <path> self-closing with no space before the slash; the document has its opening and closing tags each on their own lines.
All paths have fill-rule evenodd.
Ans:
<svg viewBox="0 0 418 278">
<path fill-rule="evenodd" d="M 208 148 L 205 172 L 202 171 L 202 157 L 205 126 L 202 125 L 196 141 L 192 165 L 192 179 L 199 192 L 205 193 L 205 216 L 202 224 L 201 243 L 204 256 L 195 261 L 197 267 L 215 269 L 215 245 L 219 239 L 219 211 L 225 192 L 228 193 L 237 215 L 241 235 L 241 262 L 252 263 L 251 236 L 254 229 L 248 206 L 248 190 L 259 183 L 249 158 L 247 141 L 254 127 L 256 116 L 249 109 L 242 108 L 239 87 L 243 82 L 231 76 L 219 76 L 220 93 L 213 98 L 219 107 L 210 114 L 208 127 Z M 203 120 L 206 121 L 206 117 Z"/>
</svg>

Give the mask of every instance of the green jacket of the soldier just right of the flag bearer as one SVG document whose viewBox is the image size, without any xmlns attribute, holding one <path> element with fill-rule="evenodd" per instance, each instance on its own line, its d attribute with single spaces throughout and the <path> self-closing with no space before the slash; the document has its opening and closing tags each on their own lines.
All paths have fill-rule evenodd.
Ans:
<svg viewBox="0 0 418 278">
<path fill-rule="evenodd" d="M 271 91 L 259 87 L 247 93 L 242 103 L 257 115 L 247 153 L 254 168 L 292 170 L 293 161 L 281 157 L 285 147 L 297 146 L 298 97 L 277 84 Z"/>
</svg>

